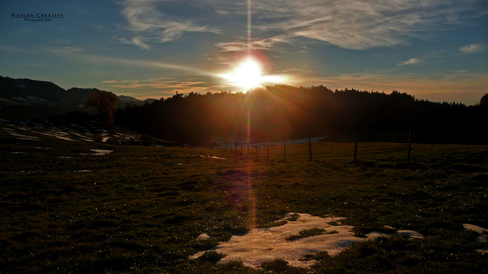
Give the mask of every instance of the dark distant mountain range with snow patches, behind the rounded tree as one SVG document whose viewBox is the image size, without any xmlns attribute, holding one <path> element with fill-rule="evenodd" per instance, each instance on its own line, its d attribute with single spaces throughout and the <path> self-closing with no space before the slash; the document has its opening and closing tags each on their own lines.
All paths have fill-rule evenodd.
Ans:
<svg viewBox="0 0 488 274">
<path fill-rule="evenodd" d="M 96 88 L 70 88 L 64 90 L 55 83 L 31 79 L 14 79 L 0 76 L 0 117 L 41 118 L 62 115 L 69 111 L 85 111 L 83 104 Z M 117 107 L 141 106 L 155 99 L 139 100 L 119 96 Z"/>
</svg>

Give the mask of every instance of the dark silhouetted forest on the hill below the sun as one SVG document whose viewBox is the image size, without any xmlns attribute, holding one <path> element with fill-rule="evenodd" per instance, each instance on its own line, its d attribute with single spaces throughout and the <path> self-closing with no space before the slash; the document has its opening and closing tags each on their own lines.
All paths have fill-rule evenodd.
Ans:
<svg viewBox="0 0 488 274">
<path fill-rule="evenodd" d="M 119 109 L 114 120 L 146 135 L 202 145 L 215 138 L 261 142 L 354 132 L 368 136 L 363 141 L 402 141 L 391 133 L 405 136 L 410 126 L 414 142 L 486 143 L 487 118 L 487 107 L 478 104 L 431 102 L 398 91 L 276 85 L 245 94 L 177 93 Z"/>
</svg>

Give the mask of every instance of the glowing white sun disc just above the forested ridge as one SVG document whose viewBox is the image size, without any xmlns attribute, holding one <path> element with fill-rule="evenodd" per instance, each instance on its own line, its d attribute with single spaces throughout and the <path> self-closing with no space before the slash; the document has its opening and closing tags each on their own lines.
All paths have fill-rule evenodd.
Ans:
<svg viewBox="0 0 488 274">
<path fill-rule="evenodd" d="M 243 88 L 255 88 L 261 85 L 263 75 L 259 64 L 253 60 L 246 60 L 231 74 L 226 75 L 233 85 Z"/>
</svg>

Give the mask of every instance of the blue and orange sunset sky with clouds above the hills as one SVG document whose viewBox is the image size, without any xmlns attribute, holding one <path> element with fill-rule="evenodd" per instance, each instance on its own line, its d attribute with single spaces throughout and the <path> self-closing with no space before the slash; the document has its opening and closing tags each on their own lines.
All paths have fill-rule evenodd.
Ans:
<svg viewBox="0 0 488 274">
<path fill-rule="evenodd" d="M 324 85 L 468 105 L 488 93 L 487 0 L 0 0 L 0 7 L 0 75 L 64 89 L 145 99 Z"/>
</svg>

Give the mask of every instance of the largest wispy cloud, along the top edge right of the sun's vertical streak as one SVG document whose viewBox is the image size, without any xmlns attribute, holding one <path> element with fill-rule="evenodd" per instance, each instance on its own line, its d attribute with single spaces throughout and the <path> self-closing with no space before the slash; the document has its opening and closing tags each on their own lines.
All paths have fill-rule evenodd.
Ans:
<svg viewBox="0 0 488 274">
<path fill-rule="evenodd" d="M 446 4 L 449 2 L 449 4 Z M 255 29 L 348 49 L 407 43 L 407 36 L 481 16 L 469 0 L 267 0 L 253 4 Z M 312 42 L 312 41 L 309 41 Z"/>
</svg>

